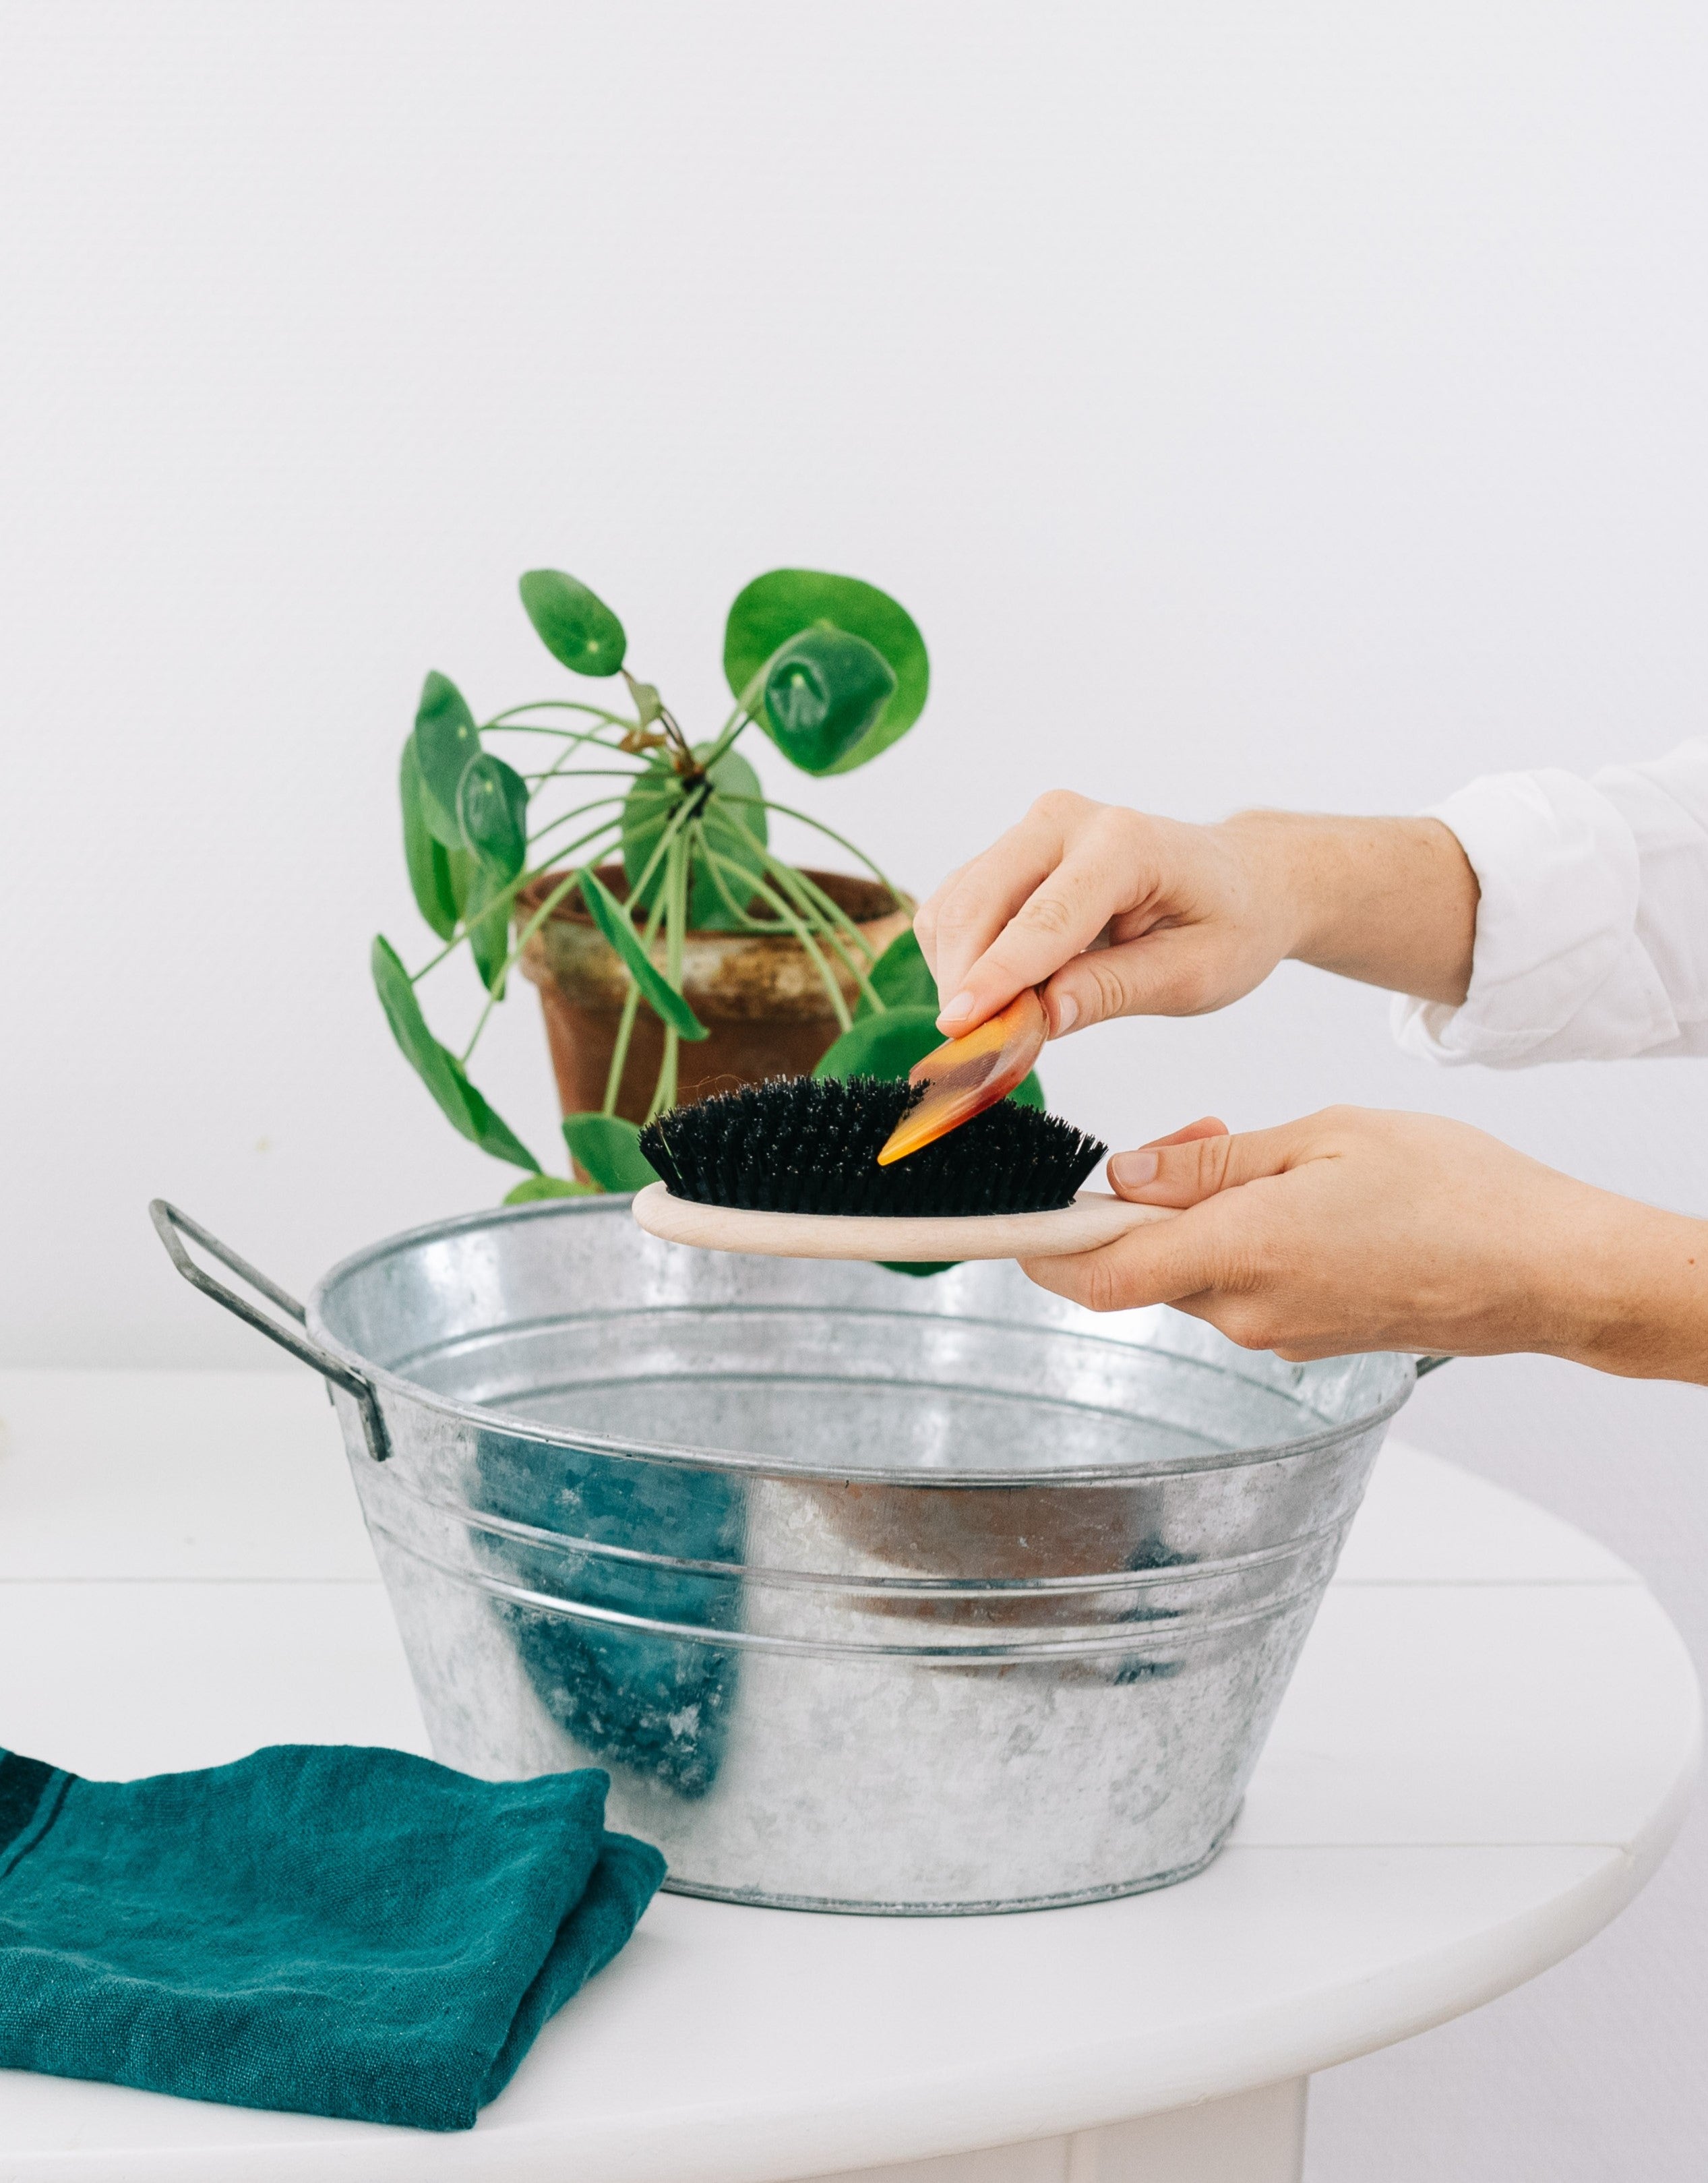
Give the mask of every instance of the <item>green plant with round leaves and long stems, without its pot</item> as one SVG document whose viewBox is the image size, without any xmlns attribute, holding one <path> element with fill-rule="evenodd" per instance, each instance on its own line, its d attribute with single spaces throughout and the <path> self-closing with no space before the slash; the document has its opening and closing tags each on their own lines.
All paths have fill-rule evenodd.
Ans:
<svg viewBox="0 0 1708 2183">
<path fill-rule="evenodd" d="M 691 742 L 659 690 L 630 675 L 624 627 L 585 583 L 530 570 L 521 605 L 556 661 L 593 681 L 620 679 L 628 709 L 548 696 L 476 720 L 456 683 L 428 675 L 399 795 L 414 902 L 443 945 L 408 971 L 390 941 L 373 941 L 373 980 L 393 1035 L 445 1118 L 495 1159 L 526 1170 L 506 1203 L 633 1190 L 652 1179 L 637 1124 L 617 1113 L 617 1092 L 641 1009 L 663 1024 L 648 1118 L 676 1100 L 681 1043 L 707 1035 L 683 991 L 689 930 L 792 937 L 842 1030 L 820 1070 L 905 1074 L 940 1037 L 936 987 L 912 934 L 875 954 L 818 880 L 777 856 L 768 814 L 814 827 L 857 858 L 892 902 L 903 897 L 853 843 L 766 797 L 737 749 L 746 729 L 759 727 L 792 766 L 822 777 L 851 773 L 905 736 L 929 688 L 925 640 L 905 609 L 853 576 L 790 568 L 757 576 L 724 629 L 733 709 L 715 736 Z M 624 902 L 598 871 L 613 856 L 622 860 Z M 628 976 L 604 1107 L 563 1124 L 591 1183 L 548 1174 L 469 1081 L 510 971 L 572 895 Z M 458 1054 L 428 1028 L 417 987 L 465 947 L 486 1000 Z"/>
</svg>

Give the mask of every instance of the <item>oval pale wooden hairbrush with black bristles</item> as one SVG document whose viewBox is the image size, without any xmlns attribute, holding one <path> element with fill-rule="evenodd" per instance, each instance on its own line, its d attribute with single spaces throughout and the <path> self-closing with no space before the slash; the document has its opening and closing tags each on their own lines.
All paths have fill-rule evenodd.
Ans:
<svg viewBox="0 0 1708 2183">
<path fill-rule="evenodd" d="M 676 1107 L 641 1131 L 663 1181 L 635 1220 L 705 1251 L 931 1264 L 1093 1251 L 1169 1218 L 1080 1192 L 1106 1146 L 1008 1098 L 881 1164 L 929 1098 L 925 1081 L 779 1076 Z"/>
</svg>

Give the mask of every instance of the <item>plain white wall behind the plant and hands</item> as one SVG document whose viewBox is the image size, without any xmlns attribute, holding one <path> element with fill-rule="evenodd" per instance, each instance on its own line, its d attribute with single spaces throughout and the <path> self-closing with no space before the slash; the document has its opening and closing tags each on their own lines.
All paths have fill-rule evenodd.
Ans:
<svg viewBox="0 0 1708 2183">
<path fill-rule="evenodd" d="M 1704 725 L 1693 7 L 11 4 L 0 15 L 0 1358 L 233 1362 L 146 1227 L 288 1286 L 513 1179 L 366 985 L 428 952 L 425 668 L 561 694 L 569 568 L 705 731 L 761 568 L 886 585 L 934 696 L 796 790 L 925 891 L 1041 788 L 1411 810 Z M 462 965 L 428 1006 L 467 1024 Z M 1708 1212 L 1708 1063 L 1438 1074 L 1304 971 L 1049 1057 L 1136 1142 L 1459 1113 Z M 541 1150 L 532 991 L 476 1076 Z M 1708 1397 L 1455 1364 L 1414 1439 L 1708 1642 Z M 0 1740 L 4 1729 L 0 1725 Z M 1313 2183 L 1699 2174 L 1708 1856 L 1315 2091 Z"/>
</svg>

